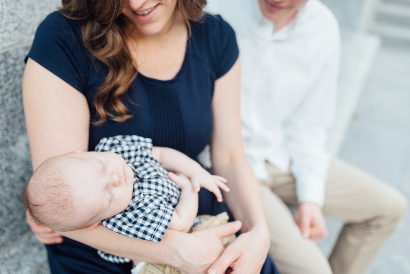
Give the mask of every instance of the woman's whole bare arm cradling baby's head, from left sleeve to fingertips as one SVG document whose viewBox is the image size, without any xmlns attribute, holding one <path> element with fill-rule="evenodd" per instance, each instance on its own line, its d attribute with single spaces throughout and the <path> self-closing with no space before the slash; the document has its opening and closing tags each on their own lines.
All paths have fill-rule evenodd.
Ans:
<svg viewBox="0 0 410 274">
<path fill-rule="evenodd" d="M 86 98 L 32 59 L 27 60 L 24 73 L 23 104 L 34 169 L 49 157 L 88 150 L 90 114 Z M 27 223 L 41 242 L 56 238 L 57 233 L 32 223 L 30 218 Z M 64 235 L 116 256 L 164 263 L 200 274 L 223 251 L 220 238 L 239 227 L 231 223 L 191 235 L 169 230 L 160 244 L 120 235 L 102 225 Z"/>
</svg>

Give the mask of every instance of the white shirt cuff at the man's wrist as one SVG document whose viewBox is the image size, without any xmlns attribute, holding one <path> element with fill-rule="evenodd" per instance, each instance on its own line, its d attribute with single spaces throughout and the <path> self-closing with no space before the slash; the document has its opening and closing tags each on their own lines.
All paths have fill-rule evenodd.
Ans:
<svg viewBox="0 0 410 274">
<path fill-rule="evenodd" d="M 315 176 L 302 176 L 296 179 L 298 202 L 313 202 L 323 207 L 325 201 L 326 180 Z"/>
</svg>

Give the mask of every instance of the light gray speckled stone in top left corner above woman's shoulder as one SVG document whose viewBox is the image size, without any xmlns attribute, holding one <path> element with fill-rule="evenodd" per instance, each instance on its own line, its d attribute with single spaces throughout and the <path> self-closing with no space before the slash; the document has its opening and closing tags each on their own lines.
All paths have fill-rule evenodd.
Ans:
<svg viewBox="0 0 410 274">
<path fill-rule="evenodd" d="M 61 0 L 0 0 L 0 52 L 30 44 L 39 23 L 61 6 Z"/>
</svg>

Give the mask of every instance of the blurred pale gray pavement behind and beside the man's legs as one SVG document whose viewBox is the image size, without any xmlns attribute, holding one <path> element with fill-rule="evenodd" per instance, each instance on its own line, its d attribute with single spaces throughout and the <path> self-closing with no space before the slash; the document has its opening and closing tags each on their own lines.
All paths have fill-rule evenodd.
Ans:
<svg viewBox="0 0 410 274">
<path fill-rule="evenodd" d="M 399 189 L 410 200 L 410 49 L 384 46 L 376 56 L 339 157 Z M 342 224 L 327 219 L 327 255 Z M 368 274 L 410 273 L 410 212 Z"/>
</svg>

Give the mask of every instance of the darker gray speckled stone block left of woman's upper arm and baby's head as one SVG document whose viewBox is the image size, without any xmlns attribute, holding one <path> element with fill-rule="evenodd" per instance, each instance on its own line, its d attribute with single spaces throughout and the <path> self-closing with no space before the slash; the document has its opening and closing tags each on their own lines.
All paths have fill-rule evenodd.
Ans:
<svg viewBox="0 0 410 274">
<path fill-rule="evenodd" d="M 21 82 L 28 48 L 0 55 L 0 246 L 29 229 L 21 193 L 32 172 L 25 130 Z M 2 258 L 0 257 L 0 265 Z"/>
</svg>

